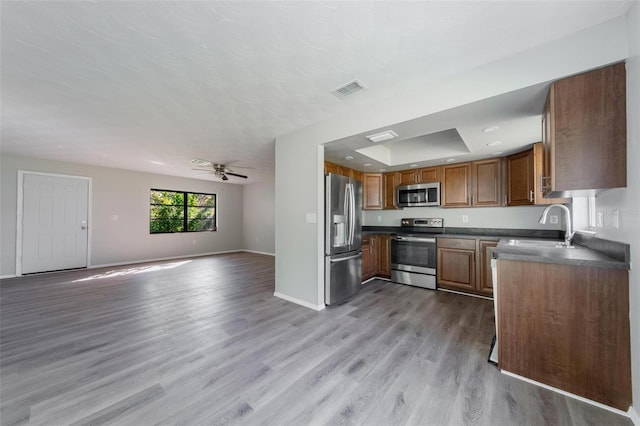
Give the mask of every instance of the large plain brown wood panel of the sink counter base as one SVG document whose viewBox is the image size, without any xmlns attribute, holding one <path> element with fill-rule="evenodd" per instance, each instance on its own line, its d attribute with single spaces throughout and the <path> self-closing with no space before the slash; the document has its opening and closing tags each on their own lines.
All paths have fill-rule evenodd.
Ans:
<svg viewBox="0 0 640 426">
<path fill-rule="evenodd" d="M 502 370 L 627 411 L 628 271 L 499 259 L 497 290 Z"/>
</svg>

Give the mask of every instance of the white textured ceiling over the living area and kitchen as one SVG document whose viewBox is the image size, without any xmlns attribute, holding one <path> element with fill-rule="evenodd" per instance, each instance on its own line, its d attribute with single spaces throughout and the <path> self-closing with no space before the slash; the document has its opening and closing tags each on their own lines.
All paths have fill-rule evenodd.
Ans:
<svg viewBox="0 0 640 426">
<path fill-rule="evenodd" d="M 190 169 L 198 157 L 253 167 L 241 172 L 259 182 L 275 174 L 279 135 L 607 21 L 630 4 L 2 2 L 0 148 L 213 179 Z M 368 88 L 342 100 L 330 93 L 354 78 Z M 544 89 L 396 132 L 456 128 L 470 151 L 484 153 L 475 133 L 491 118 L 520 126 L 518 143 L 531 142 L 526 129 Z M 494 116 L 477 117 L 486 111 Z M 332 146 L 351 150 L 348 139 Z"/>
</svg>

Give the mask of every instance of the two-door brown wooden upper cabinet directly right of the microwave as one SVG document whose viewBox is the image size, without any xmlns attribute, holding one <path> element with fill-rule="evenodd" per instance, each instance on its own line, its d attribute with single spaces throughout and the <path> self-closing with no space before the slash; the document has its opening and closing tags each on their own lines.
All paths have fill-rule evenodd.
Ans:
<svg viewBox="0 0 640 426">
<path fill-rule="evenodd" d="M 502 159 L 442 166 L 442 207 L 502 205 Z"/>
</svg>

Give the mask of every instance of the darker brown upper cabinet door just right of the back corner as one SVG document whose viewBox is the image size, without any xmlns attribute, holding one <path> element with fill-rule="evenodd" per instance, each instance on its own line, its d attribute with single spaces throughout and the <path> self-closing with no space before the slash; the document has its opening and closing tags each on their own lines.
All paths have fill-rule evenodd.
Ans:
<svg viewBox="0 0 640 426">
<path fill-rule="evenodd" d="M 533 149 L 507 157 L 507 206 L 534 203 Z"/>
</svg>

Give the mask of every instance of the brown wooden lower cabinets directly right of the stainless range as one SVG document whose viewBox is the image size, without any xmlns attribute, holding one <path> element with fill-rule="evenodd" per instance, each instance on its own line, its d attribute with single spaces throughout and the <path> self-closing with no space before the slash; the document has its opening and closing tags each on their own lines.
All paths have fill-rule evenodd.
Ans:
<svg viewBox="0 0 640 426">
<path fill-rule="evenodd" d="M 493 296 L 491 258 L 496 240 L 438 238 L 438 287 Z"/>
</svg>

